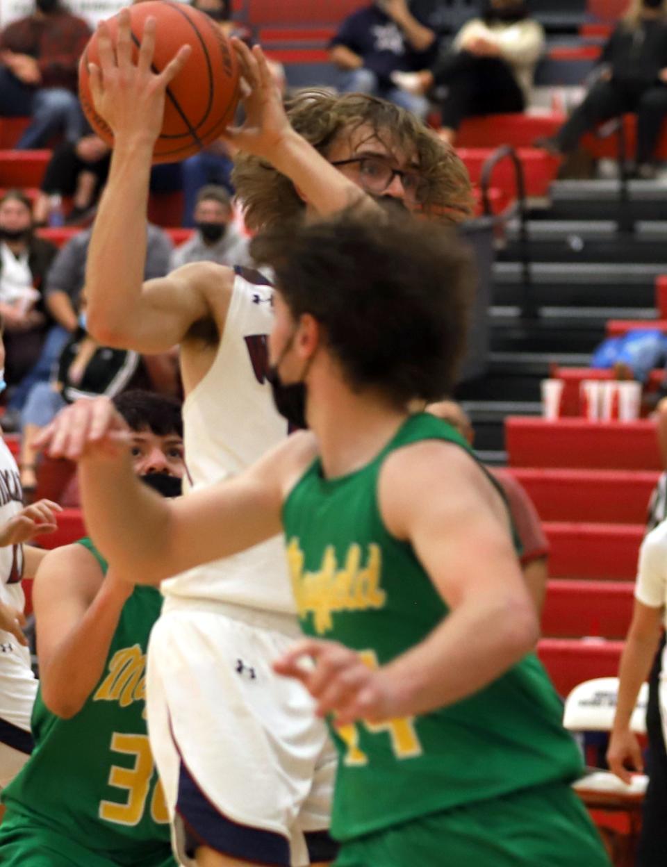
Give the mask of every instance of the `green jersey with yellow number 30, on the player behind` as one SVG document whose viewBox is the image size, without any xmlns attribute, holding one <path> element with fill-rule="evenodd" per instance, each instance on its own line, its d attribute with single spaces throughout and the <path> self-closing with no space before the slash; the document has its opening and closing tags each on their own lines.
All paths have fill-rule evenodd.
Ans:
<svg viewBox="0 0 667 867">
<path fill-rule="evenodd" d="M 93 544 L 88 539 L 81 544 L 106 572 Z M 21 828 L 57 831 L 123 865 L 149 867 L 169 857 L 167 808 L 145 711 L 148 636 L 161 606 L 159 590 L 134 590 L 123 606 L 104 673 L 74 717 L 52 714 L 37 693 L 35 749 L 3 790 L 2 834 Z"/>
</svg>

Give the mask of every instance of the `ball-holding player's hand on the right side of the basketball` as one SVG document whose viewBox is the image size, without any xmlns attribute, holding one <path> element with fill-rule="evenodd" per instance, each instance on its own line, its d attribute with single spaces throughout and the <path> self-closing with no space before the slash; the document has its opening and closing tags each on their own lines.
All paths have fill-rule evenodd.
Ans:
<svg viewBox="0 0 667 867">
<path fill-rule="evenodd" d="M 258 45 L 251 51 L 233 37 L 232 46 L 239 58 L 245 122 L 241 127 L 227 127 L 220 138 L 240 151 L 271 160 L 292 132 L 283 96 Z"/>
</svg>

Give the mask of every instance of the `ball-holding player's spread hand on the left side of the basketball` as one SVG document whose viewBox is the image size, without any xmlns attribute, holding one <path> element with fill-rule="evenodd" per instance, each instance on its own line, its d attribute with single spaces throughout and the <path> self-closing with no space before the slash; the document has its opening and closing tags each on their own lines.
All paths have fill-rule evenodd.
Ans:
<svg viewBox="0 0 667 867">
<path fill-rule="evenodd" d="M 159 74 L 151 68 L 155 51 L 154 17 L 144 25 L 137 61 L 133 61 L 130 16 L 127 9 L 118 16 L 114 41 L 108 24 L 97 28 L 100 65 L 88 63 L 90 92 L 95 111 L 111 127 L 116 144 L 119 138 L 154 142 L 160 135 L 169 83 L 180 73 L 191 47 L 183 45 Z"/>
</svg>

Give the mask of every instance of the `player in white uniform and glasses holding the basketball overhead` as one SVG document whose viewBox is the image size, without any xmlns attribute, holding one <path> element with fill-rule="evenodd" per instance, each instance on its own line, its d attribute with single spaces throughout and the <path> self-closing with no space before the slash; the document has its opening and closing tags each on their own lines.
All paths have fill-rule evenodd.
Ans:
<svg viewBox="0 0 667 867">
<path fill-rule="evenodd" d="M 115 52 L 102 29 L 101 75 L 91 75 L 115 147 L 88 258 L 88 329 L 108 345 L 147 353 L 181 344 L 186 463 L 198 490 L 241 472 L 284 438 L 287 424 L 265 381 L 270 287 L 213 264 L 141 284 L 151 153 L 168 78 L 186 54 L 154 75 L 153 28 L 137 66 L 127 18 Z M 461 162 L 408 114 L 363 97 L 300 101 L 296 122 L 324 159 L 290 126 L 261 53 L 237 49 L 251 93 L 247 121 L 229 137 L 252 154 L 239 191 L 253 224 L 279 222 L 290 208 L 292 218 L 335 212 L 366 199 L 363 187 L 410 209 L 467 212 Z M 334 850 L 323 831 L 335 756 L 304 688 L 271 671 L 298 636 L 282 542 L 207 564 L 162 590 L 147 707 L 180 857 L 285 867 L 329 861 Z"/>
</svg>

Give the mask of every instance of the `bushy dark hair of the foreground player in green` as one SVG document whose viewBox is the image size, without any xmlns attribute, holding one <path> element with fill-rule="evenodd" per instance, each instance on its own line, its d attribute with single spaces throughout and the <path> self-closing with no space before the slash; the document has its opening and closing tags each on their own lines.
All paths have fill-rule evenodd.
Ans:
<svg viewBox="0 0 667 867">
<path fill-rule="evenodd" d="M 252 241 L 298 319 L 310 313 L 350 388 L 396 406 L 434 401 L 454 385 L 465 348 L 471 259 L 451 228 L 356 208 L 278 225 Z"/>
</svg>

